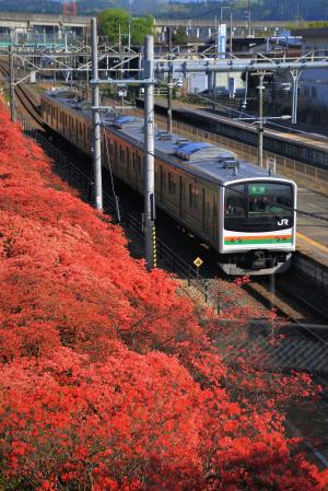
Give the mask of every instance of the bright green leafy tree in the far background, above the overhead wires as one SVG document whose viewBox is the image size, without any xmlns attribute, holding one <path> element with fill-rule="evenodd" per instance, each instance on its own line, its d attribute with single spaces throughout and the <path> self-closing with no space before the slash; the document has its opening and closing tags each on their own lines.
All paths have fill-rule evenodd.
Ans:
<svg viewBox="0 0 328 491">
<path fill-rule="evenodd" d="M 128 44 L 129 33 L 129 12 L 124 9 L 107 9 L 99 14 L 101 32 L 108 36 L 110 43 L 119 42 Z M 144 40 L 144 36 L 153 33 L 154 19 L 151 15 L 144 17 L 131 17 L 131 44 L 140 45 Z"/>
</svg>

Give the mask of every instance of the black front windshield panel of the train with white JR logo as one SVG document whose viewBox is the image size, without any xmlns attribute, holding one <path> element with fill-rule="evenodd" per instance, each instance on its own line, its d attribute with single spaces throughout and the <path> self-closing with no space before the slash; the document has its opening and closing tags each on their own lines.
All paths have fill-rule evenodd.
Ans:
<svg viewBox="0 0 328 491">
<path fill-rule="evenodd" d="M 225 189 L 226 230 L 269 232 L 293 226 L 293 188 L 290 184 L 254 182 Z"/>
</svg>

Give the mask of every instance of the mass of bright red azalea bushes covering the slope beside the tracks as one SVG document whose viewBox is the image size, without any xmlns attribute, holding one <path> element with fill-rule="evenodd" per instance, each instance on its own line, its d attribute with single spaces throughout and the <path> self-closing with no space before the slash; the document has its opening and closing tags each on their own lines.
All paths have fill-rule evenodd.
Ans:
<svg viewBox="0 0 328 491">
<path fill-rule="evenodd" d="M 175 280 L 133 260 L 3 108 L 0 125 L 0 489 L 324 490 L 282 390 L 258 404 L 268 384 L 245 366 L 238 395 Z"/>
</svg>

